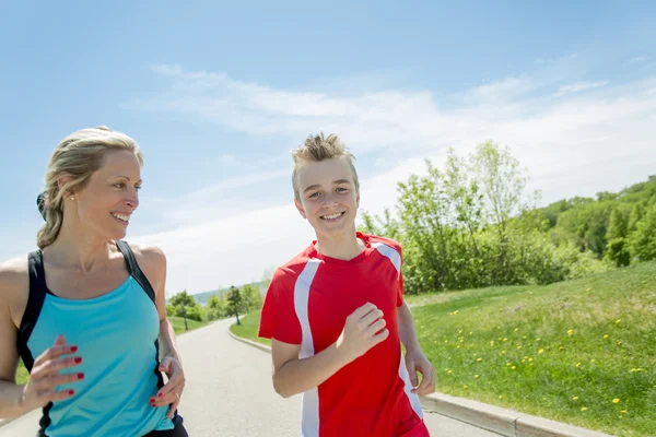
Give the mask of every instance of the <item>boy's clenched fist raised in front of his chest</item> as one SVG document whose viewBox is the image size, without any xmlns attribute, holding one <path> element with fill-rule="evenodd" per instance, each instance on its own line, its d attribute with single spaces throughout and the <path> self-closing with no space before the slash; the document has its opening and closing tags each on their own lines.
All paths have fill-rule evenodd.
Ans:
<svg viewBox="0 0 656 437">
<path fill-rule="evenodd" d="M 389 331 L 385 324 L 383 311 L 374 304 L 366 303 L 347 317 L 344 329 L 337 340 L 337 349 L 350 363 L 387 339 Z"/>
</svg>

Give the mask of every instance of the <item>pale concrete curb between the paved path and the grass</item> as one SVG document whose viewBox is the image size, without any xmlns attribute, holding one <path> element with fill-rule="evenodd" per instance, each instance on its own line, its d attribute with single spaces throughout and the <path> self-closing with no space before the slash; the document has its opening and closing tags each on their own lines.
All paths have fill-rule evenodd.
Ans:
<svg viewBox="0 0 656 437">
<path fill-rule="evenodd" d="M 237 336 L 230 329 L 227 333 L 242 343 L 271 353 L 271 347 L 266 344 Z M 442 414 L 505 437 L 612 437 L 608 434 L 443 393 L 429 394 L 420 400 L 421 406 L 429 412 Z"/>
</svg>

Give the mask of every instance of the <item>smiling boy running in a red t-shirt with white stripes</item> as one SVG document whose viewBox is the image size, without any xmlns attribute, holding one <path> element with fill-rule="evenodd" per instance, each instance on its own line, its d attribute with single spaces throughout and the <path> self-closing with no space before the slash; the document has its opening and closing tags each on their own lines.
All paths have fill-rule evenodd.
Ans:
<svg viewBox="0 0 656 437">
<path fill-rule="evenodd" d="M 294 203 L 317 239 L 276 271 L 265 298 L 273 387 L 303 393 L 304 437 L 429 436 L 418 394 L 435 390 L 435 368 L 402 298 L 401 248 L 355 232 L 358 174 L 337 135 L 292 154 Z"/>
</svg>

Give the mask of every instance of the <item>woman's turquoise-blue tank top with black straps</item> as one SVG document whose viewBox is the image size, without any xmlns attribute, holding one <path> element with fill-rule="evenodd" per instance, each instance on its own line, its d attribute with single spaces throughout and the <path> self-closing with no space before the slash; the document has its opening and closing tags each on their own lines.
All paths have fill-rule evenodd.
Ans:
<svg viewBox="0 0 656 437">
<path fill-rule="evenodd" d="M 168 406 L 152 408 L 163 386 L 159 366 L 160 318 L 155 293 L 130 247 L 117 241 L 130 275 L 118 288 L 85 300 L 57 297 L 46 287 L 43 253 L 30 253 L 30 297 L 19 330 L 19 353 L 28 370 L 58 334 L 78 345 L 82 364 L 61 371 L 83 380 L 43 410 L 39 436 L 143 436 L 173 429 Z"/>
</svg>

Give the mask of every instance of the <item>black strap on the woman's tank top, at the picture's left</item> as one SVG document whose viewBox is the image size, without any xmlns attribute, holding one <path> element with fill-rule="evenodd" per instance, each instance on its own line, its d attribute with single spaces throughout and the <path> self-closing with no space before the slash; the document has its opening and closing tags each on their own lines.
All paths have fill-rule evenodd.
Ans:
<svg viewBox="0 0 656 437">
<path fill-rule="evenodd" d="M 27 256 L 27 272 L 30 274 L 30 295 L 27 297 L 27 307 L 21 320 L 17 335 L 19 355 L 23 359 L 27 371 L 32 371 L 34 357 L 27 347 L 27 341 L 36 326 L 38 316 L 44 307 L 46 299 L 46 273 L 44 270 L 44 255 L 40 250 L 35 250 Z"/>
</svg>

